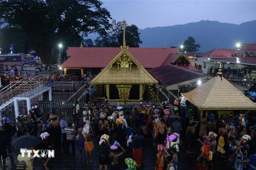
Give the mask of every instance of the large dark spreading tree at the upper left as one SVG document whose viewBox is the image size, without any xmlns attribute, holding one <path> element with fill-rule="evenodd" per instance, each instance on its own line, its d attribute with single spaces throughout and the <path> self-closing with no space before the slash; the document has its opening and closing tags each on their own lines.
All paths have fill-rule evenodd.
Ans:
<svg viewBox="0 0 256 170">
<path fill-rule="evenodd" d="M 97 32 L 105 36 L 110 29 L 110 14 L 99 0 L 2 0 L 0 19 L 7 28 L 19 28 L 44 63 L 54 63 L 62 44 L 79 46 L 83 36 Z"/>
</svg>

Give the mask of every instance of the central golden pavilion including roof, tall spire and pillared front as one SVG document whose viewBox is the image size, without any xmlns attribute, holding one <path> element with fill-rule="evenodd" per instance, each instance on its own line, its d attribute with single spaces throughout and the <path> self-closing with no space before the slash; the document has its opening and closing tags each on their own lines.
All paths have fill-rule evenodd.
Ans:
<svg viewBox="0 0 256 170">
<path fill-rule="evenodd" d="M 91 81 L 103 84 L 109 101 L 137 101 L 143 98 L 145 86 L 158 84 L 148 71 L 129 53 L 125 44 L 123 21 L 123 46 L 121 52 Z"/>
</svg>

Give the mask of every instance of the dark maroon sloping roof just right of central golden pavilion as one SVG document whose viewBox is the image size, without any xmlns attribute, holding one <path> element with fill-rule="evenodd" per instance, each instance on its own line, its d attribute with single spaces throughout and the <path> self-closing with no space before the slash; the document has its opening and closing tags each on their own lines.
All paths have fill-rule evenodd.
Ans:
<svg viewBox="0 0 256 170">
<path fill-rule="evenodd" d="M 207 77 L 206 74 L 184 69 L 176 65 L 164 65 L 149 69 L 148 72 L 164 86 L 187 82 L 190 80 Z"/>
</svg>

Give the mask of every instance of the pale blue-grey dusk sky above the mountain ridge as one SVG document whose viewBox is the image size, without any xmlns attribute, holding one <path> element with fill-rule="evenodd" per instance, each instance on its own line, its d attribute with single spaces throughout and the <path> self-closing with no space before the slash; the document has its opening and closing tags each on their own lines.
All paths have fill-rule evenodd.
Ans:
<svg viewBox="0 0 256 170">
<path fill-rule="evenodd" d="M 116 21 L 140 29 L 211 20 L 241 24 L 256 20 L 256 1 L 102 0 Z"/>
</svg>

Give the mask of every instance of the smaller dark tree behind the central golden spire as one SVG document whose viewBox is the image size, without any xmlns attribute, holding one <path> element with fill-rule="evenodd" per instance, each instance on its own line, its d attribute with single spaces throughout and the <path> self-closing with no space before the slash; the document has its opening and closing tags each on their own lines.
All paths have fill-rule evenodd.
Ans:
<svg viewBox="0 0 256 170">
<path fill-rule="evenodd" d="M 123 23 L 122 21 L 112 22 L 111 30 L 106 36 L 97 37 L 94 41 L 97 47 L 120 47 L 123 45 Z M 125 27 L 125 43 L 129 47 L 140 47 L 142 41 L 140 40 L 139 28 L 132 24 Z"/>
</svg>

